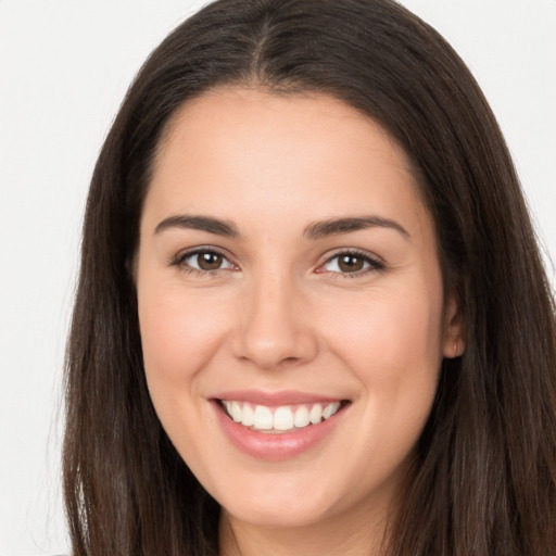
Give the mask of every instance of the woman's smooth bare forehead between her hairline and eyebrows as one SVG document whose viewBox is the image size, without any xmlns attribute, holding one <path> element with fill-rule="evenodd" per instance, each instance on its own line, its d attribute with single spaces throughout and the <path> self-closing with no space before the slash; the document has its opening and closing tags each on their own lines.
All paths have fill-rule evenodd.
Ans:
<svg viewBox="0 0 556 556">
<path fill-rule="evenodd" d="M 152 205 L 161 218 L 210 207 L 268 224 L 425 208 L 405 152 L 359 111 L 326 94 L 240 88 L 204 93 L 172 117 L 146 210 Z"/>
</svg>

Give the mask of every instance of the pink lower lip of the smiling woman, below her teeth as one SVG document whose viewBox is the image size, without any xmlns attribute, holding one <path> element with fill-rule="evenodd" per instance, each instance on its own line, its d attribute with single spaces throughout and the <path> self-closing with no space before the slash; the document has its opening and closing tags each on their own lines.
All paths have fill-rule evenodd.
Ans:
<svg viewBox="0 0 556 556">
<path fill-rule="evenodd" d="M 318 425 L 307 425 L 293 432 L 258 432 L 232 420 L 222 408 L 219 402 L 213 402 L 217 419 L 230 442 L 245 454 L 258 459 L 279 462 L 298 456 L 325 440 L 341 420 L 345 410 Z"/>
</svg>

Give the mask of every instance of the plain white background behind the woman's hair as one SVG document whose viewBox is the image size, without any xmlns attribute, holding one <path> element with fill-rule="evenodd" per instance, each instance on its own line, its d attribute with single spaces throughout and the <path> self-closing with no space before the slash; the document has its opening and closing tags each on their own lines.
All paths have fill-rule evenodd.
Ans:
<svg viewBox="0 0 556 556">
<path fill-rule="evenodd" d="M 61 369 L 88 181 L 134 74 L 203 3 L 0 0 L 0 556 L 67 552 Z M 483 87 L 555 260 L 556 0 L 402 3 Z"/>
</svg>

